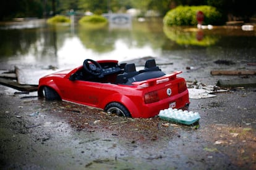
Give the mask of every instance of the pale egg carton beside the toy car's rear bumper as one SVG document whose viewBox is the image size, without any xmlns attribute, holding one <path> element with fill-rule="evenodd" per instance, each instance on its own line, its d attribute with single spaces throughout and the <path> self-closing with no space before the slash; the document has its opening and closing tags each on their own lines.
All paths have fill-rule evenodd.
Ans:
<svg viewBox="0 0 256 170">
<path fill-rule="evenodd" d="M 168 108 L 160 110 L 158 116 L 161 119 L 172 121 L 174 123 L 181 124 L 193 124 L 199 121 L 201 118 L 198 112 L 187 111 L 187 110 L 177 110 L 177 108 Z"/>
</svg>

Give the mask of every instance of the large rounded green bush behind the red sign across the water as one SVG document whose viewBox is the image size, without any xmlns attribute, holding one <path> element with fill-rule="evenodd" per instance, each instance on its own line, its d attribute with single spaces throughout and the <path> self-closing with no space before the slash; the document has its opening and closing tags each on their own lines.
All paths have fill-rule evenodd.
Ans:
<svg viewBox="0 0 256 170">
<path fill-rule="evenodd" d="M 197 12 L 204 14 L 203 25 L 221 25 L 224 23 L 221 13 L 211 6 L 178 6 L 164 16 L 164 25 L 197 25 Z"/>
</svg>

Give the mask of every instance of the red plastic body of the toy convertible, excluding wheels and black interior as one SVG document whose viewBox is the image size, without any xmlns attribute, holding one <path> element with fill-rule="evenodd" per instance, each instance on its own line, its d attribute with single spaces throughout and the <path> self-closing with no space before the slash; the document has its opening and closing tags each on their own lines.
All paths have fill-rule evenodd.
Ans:
<svg viewBox="0 0 256 170">
<path fill-rule="evenodd" d="M 106 73 L 111 72 L 113 65 L 119 67 L 117 60 L 100 60 L 98 63 Z M 121 67 L 113 73 L 105 74 L 103 78 L 88 80 L 70 78 L 82 69 L 83 66 L 80 66 L 74 70 L 64 70 L 44 76 L 39 81 L 38 95 L 43 95 L 44 87 L 49 87 L 61 100 L 101 108 L 105 111 L 109 103 L 120 103 L 127 108 L 133 118 L 150 118 L 158 115 L 159 111 L 165 108 L 183 108 L 189 104 L 186 81 L 177 77 L 181 71 L 130 84 L 116 83 L 117 76 L 122 73 Z M 144 74 L 151 73 L 148 71 Z"/>
</svg>

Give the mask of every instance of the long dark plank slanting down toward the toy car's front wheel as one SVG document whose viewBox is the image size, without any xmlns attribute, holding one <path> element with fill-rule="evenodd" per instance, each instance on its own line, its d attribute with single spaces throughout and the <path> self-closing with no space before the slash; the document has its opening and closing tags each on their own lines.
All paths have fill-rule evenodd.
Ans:
<svg viewBox="0 0 256 170">
<path fill-rule="evenodd" d="M 22 85 L 17 83 L 17 81 L 14 81 L 13 79 L 0 78 L 0 84 L 7 87 L 11 87 L 18 91 L 28 91 L 28 92 L 37 91 L 37 86 Z"/>
</svg>

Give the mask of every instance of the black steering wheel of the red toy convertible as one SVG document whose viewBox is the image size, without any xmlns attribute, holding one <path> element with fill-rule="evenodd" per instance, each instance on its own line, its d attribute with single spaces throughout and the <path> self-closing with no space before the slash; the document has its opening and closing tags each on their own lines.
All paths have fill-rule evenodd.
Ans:
<svg viewBox="0 0 256 170">
<path fill-rule="evenodd" d="M 86 59 L 83 62 L 83 68 L 85 69 L 85 71 L 87 71 L 88 73 L 90 73 L 94 76 L 98 76 L 98 77 L 103 76 L 102 68 L 101 68 L 100 64 L 98 62 L 96 62 L 95 60 Z"/>
</svg>

